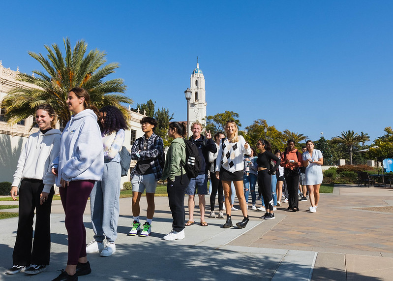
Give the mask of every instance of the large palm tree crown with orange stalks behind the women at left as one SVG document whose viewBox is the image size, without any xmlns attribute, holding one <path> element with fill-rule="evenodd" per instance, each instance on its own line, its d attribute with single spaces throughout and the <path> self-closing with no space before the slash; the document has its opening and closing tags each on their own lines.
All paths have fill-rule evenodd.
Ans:
<svg viewBox="0 0 393 281">
<path fill-rule="evenodd" d="M 34 88 L 15 88 L 10 90 L 2 101 L 7 118 L 15 124 L 30 115 L 35 114 L 34 109 L 43 103 L 49 103 L 59 116 L 60 124 L 65 125 L 70 119 L 68 111 L 67 94 L 73 87 L 82 87 L 88 91 L 91 104 L 100 108 L 113 105 L 121 109 L 126 118 L 130 118 L 123 103 L 132 103 L 132 99 L 121 94 L 126 90 L 123 80 L 112 79 L 103 81 L 110 73 L 119 67 L 118 63 L 106 63 L 105 53 L 91 50 L 87 53 L 88 44 L 84 40 L 76 42 L 74 48 L 68 38 L 63 39 L 65 57 L 57 44 L 52 48 L 45 45 L 48 51 L 45 58 L 41 53 L 29 52 L 45 69 L 45 72 L 34 70 L 32 75 L 19 74 L 18 80 L 35 85 Z M 34 74 L 39 77 L 35 77 Z"/>
</svg>

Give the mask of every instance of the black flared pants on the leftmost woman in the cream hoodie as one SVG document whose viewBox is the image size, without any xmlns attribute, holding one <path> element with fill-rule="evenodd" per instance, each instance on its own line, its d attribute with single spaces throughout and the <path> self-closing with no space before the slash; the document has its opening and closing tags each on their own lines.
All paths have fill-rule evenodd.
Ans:
<svg viewBox="0 0 393 281">
<path fill-rule="evenodd" d="M 13 264 L 49 265 L 51 253 L 50 215 L 54 188 L 51 188 L 48 199 L 40 205 L 39 196 L 43 188 L 42 181 L 33 179 L 23 179 L 19 187 L 19 220 L 14 252 L 12 253 Z M 36 216 L 33 242 L 34 209 Z"/>
</svg>

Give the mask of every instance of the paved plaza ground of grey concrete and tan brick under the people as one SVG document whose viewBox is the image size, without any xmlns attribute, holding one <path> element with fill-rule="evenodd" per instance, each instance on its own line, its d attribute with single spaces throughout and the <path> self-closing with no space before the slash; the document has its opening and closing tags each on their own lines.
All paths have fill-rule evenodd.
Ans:
<svg viewBox="0 0 393 281">
<path fill-rule="evenodd" d="M 156 197 L 155 202 L 152 235 L 129 237 L 131 198 L 121 199 L 116 253 L 110 257 L 88 254 L 92 273 L 80 280 L 392 280 L 392 208 L 377 207 L 393 206 L 393 188 L 336 185 L 333 194 L 321 194 L 317 213 L 308 212 L 309 201 L 299 202 L 297 213 L 287 211 L 283 204 L 273 220 L 259 219 L 262 212 L 249 211 L 251 219 L 245 229 L 223 229 L 225 219 L 206 218 L 208 227 L 186 227 L 181 241 L 162 240 L 171 230 L 172 217 L 167 197 Z M 141 215 L 146 215 L 145 197 L 141 207 Z M 89 209 L 88 203 L 87 242 L 93 236 Z M 232 212 L 232 217 L 234 222 L 241 221 L 241 211 Z M 12 265 L 17 221 L 0 220 L 0 280 L 57 277 L 67 260 L 60 201 L 53 201 L 52 207 L 51 264 L 37 276 L 3 274 Z"/>
</svg>

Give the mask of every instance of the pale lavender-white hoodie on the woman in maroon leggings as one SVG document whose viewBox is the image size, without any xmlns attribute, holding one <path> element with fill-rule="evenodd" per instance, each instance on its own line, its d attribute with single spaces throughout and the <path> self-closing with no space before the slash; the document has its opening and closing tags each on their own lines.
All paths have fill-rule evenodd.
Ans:
<svg viewBox="0 0 393 281">
<path fill-rule="evenodd" d="M 71 116 L 61 135 L 60 155 L 52 166 L 58 168 L 57 186 L 60 186 L 60 179 L 101 181 L 104 171 L 102 137 L 97 116 L 91 109 Z"/>
</svg>

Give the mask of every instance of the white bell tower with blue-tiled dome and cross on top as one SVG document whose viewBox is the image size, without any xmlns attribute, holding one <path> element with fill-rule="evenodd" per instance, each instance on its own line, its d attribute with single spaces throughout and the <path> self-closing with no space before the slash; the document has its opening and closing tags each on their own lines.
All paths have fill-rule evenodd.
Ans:
<svg viewBox="0 0 393 281">
<path fill-rule="evenodd" d="M 189 102 L 189 124 L 198 121 L 205 125 L 206 121 L 202 120 L 206 118 L 206 92 L 205 92 L 205 77 L 203 76 L 202 70 L 199 68 L 199 62 L 197 60 L 197 67 L 192 71 L 190 78 L 190 90 L 192 92 L 191 99 Z"/>
</svg>

